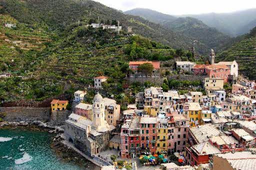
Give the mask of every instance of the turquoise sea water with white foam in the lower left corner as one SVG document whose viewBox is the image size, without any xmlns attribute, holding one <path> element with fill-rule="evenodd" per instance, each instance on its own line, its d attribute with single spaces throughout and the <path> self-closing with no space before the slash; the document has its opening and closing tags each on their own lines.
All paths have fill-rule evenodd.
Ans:
<svg viewBox="0 0 256 170">
<path fill-rule="evenodd" d="M 0 129 L 0 170 L 82 169 L 59 160 L 49 146 L 50 137 L 51 134 L 47 132 Z"/>
</svg>

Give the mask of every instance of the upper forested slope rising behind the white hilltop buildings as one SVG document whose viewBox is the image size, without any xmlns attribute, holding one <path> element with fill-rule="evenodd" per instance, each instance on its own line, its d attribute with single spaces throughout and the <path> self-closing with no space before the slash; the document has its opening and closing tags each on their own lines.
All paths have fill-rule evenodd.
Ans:
<svg viewBox="0 0 256 170">
<path fill-rule="evenodd" d="M 25 23 L 43 21 L 49 28 L 64 28 L 90 19 L 119 20 L 122 26 L 132 26 L 136 34 L 170 45 L 174 48 L 191 46 L 189 37 L 173 32 L 139 16 L 126 15 L 92 0 L 3 0 L 3 8 L 14 18 Z"/>
</svg>

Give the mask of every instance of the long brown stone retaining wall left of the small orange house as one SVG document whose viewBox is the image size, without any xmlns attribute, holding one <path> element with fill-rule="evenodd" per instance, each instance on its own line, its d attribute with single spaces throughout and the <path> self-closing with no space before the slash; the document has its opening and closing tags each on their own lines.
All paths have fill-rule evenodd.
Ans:
<svg viewBox="0 0 256 170">
<path fill-rule="evenodd" d="M 49 121 L 49 107 L 0 107 L 0 113 L 6 113 L 5 121 Z"/>
</svg>

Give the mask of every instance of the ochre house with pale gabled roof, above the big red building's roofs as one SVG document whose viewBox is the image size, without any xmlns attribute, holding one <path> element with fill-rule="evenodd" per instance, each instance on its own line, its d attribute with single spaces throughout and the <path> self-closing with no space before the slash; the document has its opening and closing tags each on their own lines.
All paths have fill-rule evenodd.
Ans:
<svg viewBox="0 0 256 170">
<path fill-rule="evenodd" d="M 198 102 L 188 102 L 188 113 L 190 126 L 195 126 L 202 123 L 201 106 Z"/>
</svg>

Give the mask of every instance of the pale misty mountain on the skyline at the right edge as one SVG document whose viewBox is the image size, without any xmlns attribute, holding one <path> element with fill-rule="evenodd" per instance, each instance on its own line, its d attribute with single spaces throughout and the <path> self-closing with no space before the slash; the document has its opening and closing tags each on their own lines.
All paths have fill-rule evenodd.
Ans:
<svg viewBox="0 0 256 170">
<path fill-rule="evenodd" d="M 206 13 L 181 15 L 202 20 L 205 24 L 217 28 L 230 36 L 248 33 L 256 26 L 256 8 L 230 13 Z"/>
</svg>

